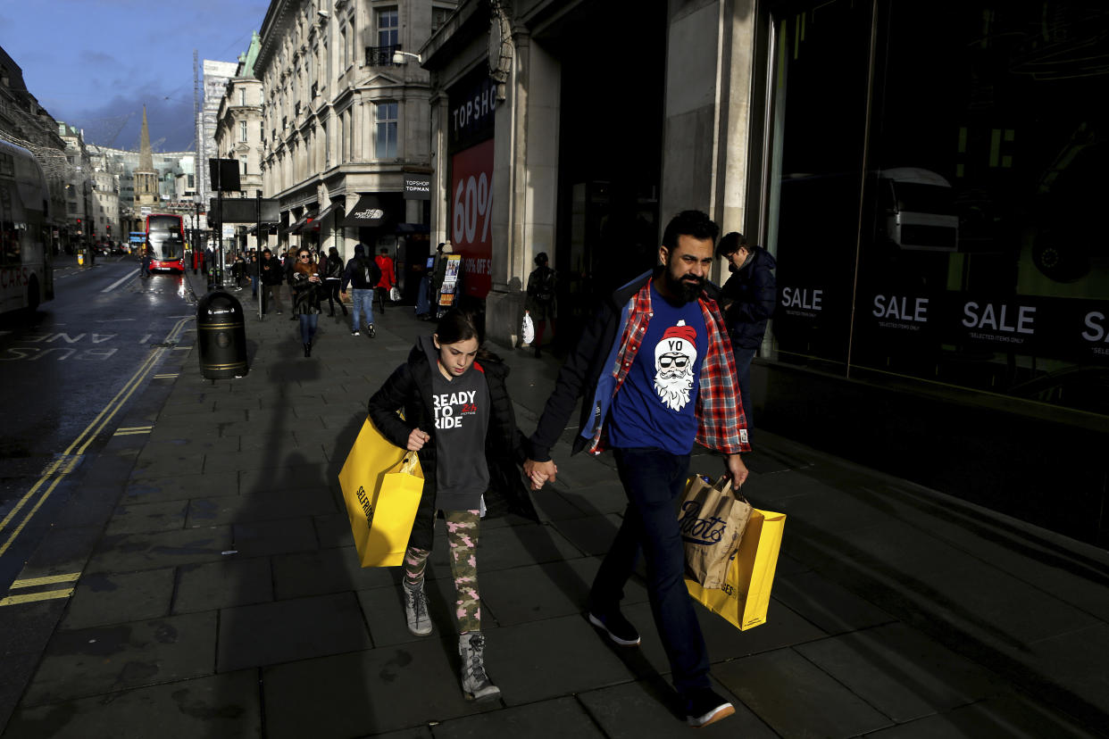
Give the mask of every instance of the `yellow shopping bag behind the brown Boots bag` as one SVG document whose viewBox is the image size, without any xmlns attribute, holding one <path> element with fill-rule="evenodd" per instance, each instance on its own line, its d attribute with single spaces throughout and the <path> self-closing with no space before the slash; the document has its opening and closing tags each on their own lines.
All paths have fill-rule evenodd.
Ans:
<svg viewBox="0 0 1109 739">
<path fill-rule="evenodd" d="M 784 527 L 784 513 L 753 509 L 721 588 L 701 587 L 696 581 L 685 578 L 693 599 L 741 632 L 765 624 Z"/>
</svg>

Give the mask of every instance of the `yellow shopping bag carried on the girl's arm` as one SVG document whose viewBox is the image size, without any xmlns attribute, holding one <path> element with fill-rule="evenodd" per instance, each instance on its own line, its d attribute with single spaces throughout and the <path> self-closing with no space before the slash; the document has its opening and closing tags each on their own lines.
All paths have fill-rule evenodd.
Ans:
<svg viewBox="0 0 1109 739">
<path fill-rule="evenodd" d="M 389 443 L 366 419 L 339 471 L 339 486 L 362 566 L 403 564 L 424 493 L 416 452 Z"/>
</svg>

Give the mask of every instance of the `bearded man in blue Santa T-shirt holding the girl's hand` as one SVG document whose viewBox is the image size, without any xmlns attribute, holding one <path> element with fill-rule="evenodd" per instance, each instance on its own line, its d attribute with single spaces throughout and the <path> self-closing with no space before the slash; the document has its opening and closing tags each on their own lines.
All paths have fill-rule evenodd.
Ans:
<svg viewBox="0 0 1109 739">
<path fill-rule="evenodd" d="M 709 653 L 683 582 L 674 501 L 685 487 L 694 441 L 726 455 L 736 487 L 747 476 L 740 452 L 751 449 L 719 289 L 705 278 L 719 233 L 699 211 L 671 219 L 659 247 L 661 265 L 618 289 L 567 358 L 523 468 L 535 489 L 554 481 L 550 450 L 583 396 L 573 453 L 611 447 L 628 495 L 590 589 L 589 622 L 618 645 L 639 645 L 620 601 L 642 551 L 654 624 L 695 727 L 735 708 L 711 687 Z"/>
</svg>

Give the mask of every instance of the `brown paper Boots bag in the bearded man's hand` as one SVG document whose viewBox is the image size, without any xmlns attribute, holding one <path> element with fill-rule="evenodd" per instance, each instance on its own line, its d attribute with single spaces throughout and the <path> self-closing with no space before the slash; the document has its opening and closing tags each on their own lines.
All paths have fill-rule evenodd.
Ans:
<svg viewBox="0 0 1109 739">
<path fill-rule="evenodd" d="M 702 587 L 722 587 L 749 517 L 751 504 L 732 493 L 728 475 L 714 485 L 708 478 L 692 475 L 678 513 L 686 575 Z"/>
</svg>

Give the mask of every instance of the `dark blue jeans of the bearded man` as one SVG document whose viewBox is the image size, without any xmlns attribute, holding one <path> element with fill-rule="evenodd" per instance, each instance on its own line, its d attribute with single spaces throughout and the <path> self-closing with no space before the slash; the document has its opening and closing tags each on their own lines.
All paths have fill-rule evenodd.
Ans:
<svg viewBox="0 0 1109 739">
<path fill-rule="evenodd" d="M 685 554 L 674 509 L 685 490 L 690 456 L 653 447 L 614 449 L 613 454 L 628 495 L 628 510 L 597 572 L 589 593 L 590 609 L 603 616 L 619 607 L 623 586 L 642 551 L 651 613 L 670 660 L 674 687 L 681 694 L 710 687 L 709 650 L 693 599 L 685 589 Z"/>
</svg>

